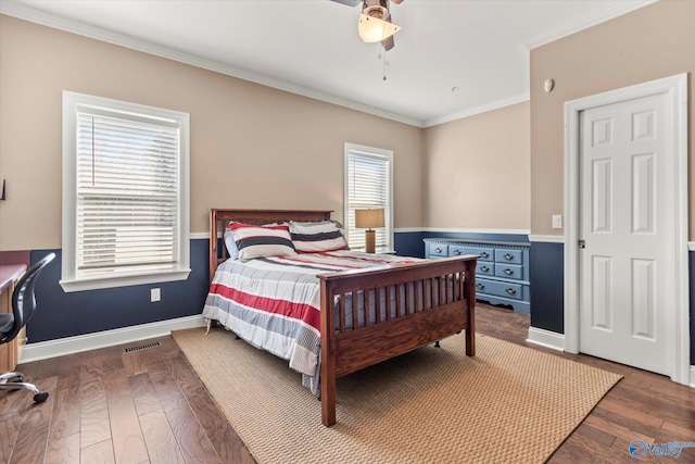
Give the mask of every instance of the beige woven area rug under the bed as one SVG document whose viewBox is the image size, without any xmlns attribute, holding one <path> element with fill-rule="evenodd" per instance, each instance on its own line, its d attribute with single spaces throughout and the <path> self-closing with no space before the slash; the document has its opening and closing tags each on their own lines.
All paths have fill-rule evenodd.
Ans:
<svg viewBox="0 0 695 464">
<path fill-rule="evenodd" d="M 338 380 L 338 424 L 287 362 L 222 328 L 174 339 L 258 463 L 542 463 L 621 378 L 465 335 Z"/>
</svg>

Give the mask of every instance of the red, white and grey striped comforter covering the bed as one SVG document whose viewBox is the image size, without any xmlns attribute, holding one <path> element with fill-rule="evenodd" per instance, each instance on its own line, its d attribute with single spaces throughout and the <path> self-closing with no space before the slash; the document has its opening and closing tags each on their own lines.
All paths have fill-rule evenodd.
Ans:
<svg viewBox="0 0 695 464">
<path fill-rule="evenodd" d="M 215 273 L 203 317 L 288 360 L 290 367 L 302 374 L 302 384 L 316 393 L 320 353 L 316 275 L 412 261 L 415 259 L 343 250 L 247 262 L 228 260 Z"/>
</svg>

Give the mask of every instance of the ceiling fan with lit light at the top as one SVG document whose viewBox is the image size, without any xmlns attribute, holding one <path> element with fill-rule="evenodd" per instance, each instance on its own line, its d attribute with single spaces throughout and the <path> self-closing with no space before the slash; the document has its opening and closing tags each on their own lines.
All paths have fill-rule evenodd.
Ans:
<svg viewBox="0 0 695 464">
<path fill-rule="evenodd" d="M 391 12 L 389 11 L 389 1 L 401 3 L 403 0 L 331 0 L 336 3 L 356 7 L 362 3 L 362 14 L 359 15 L 359 24 L 357 32 L 365 42 L 381 42 L 384 50 L 391 50 L 394 46 L 393 35 L 401 30 L 401 26 L 396 26 L 391 22 Z"/>
</svg>

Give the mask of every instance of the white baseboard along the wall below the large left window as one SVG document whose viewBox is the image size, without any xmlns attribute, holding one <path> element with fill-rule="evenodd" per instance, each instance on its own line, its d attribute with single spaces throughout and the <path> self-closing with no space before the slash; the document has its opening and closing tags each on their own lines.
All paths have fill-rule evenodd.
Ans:
<svg viewBox="0 0 695 464">
<path fill-rule="evenodd" d="M 148 338 L 164 337 L 172 330 L 204 327 L 205 321 L 201 315 L 178 317 L 150 324 L 140 324 L 131 327 L 116 328 L 113 330 L 98 331 L 94 334 L 78 335 L 58 340 L 29 343 L 22 350 L 20 363 L 47 360 L 49 358 L 83 351 L 97 350 L 99 348 L 113 347 L 114 344 L 130 343 Z"/>
</svg>

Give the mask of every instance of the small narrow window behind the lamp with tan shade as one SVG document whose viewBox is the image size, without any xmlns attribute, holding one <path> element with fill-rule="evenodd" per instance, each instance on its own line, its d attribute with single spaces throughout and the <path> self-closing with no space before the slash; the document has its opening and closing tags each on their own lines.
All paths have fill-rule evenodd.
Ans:
<svg viewBox="0 0 695 464">
<path fill-rule="evenodd" d="M 352 250 L 365 249 L 365 229 L 355 227 L 355 210 L 384 210 L 376 230 L 377 251 L 393 250 L 393 152 L 345 143 L 345 233 Z"/>
</svg>

